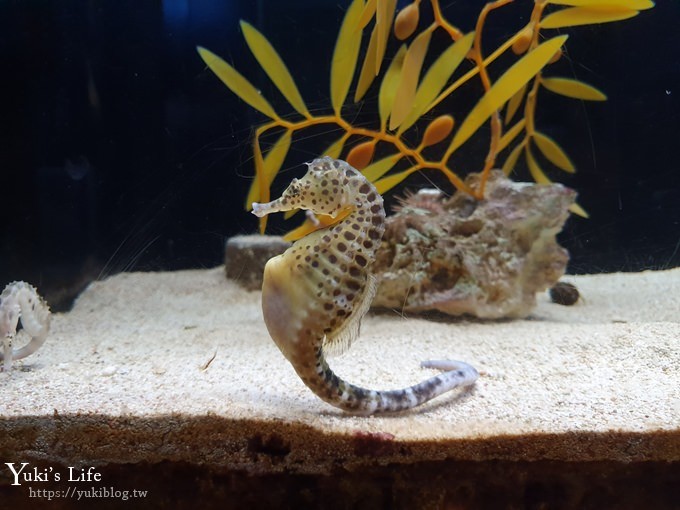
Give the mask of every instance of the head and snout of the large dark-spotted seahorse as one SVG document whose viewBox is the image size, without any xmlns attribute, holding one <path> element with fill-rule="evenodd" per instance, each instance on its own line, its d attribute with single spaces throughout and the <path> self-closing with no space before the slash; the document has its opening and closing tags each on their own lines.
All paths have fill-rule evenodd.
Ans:
<svg viewBox="0 0 680 510">
<path fill-rule="evenodd" d="M 353 175 L 357 175 L 356 170 L 328 156 L 307 165 L 307 173 L 300 179 L 293 179 L 281 198 L 268 204 L 253 203 L 253 214 L 261 217 L 272 212 L 307 209 L 335 218 L 351 205 L 347 184 Z"/>
</svg>

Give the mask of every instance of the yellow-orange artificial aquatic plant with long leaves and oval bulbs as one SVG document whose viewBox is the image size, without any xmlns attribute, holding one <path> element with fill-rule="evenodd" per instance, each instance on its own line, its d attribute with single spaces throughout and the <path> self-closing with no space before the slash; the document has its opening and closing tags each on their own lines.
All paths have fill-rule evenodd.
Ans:
<svg viewBox="0 0 680 510">
<path fill-rule="evenodd" d="M 568 38 L 568 35 L 557 35 L 543 40 L 544 32 L 631 18 L 641 10 L 652 8 L 654 3 L 651 0 L 534 0 L 527 24 L 490 54 L 484 55 L 482 35 L 489 14 L 512 2 L 495 0 L 487 3 L 479 13 L 474 30 L 464 33 L 444 16 L 439 0 L 430 0 L 432 20 L 429 24 L 420 20 L 421 0 L 414 0 L 396 16 L 397 0 L 353 0 L 335 44 L 330 72 L 331 111 L 324 115 L 310 113 L 278 52 L 249 23 L 241 21 L 248 47 L 299 117 L 289 119 L 279 115 L 258 89 L 234 67 L 209 50 L 198 47 L 201 58 L 224 84 L 269 118 L 254 132 L 255 178 L 246 199 L 246 208 L 250 209 L 253 202 L 270 200 L 270 187 L 286 159 L 293 135 L 325 124 L 335 126 L 342 135 L 330 146 L 319 147 L 318 155 L 332 158 L 342 156 L 352 166 L 362 170 L 380 193 L 392 189 L 414 172 L 431 169 L 442 172 L 456 189 L 481 199 L 489 172 L 496 165 L 499 154 L 506 149 L 508 153 L 502 164 L 506 174 L 513 170 L 523 156 L 536 182 L 551 182 L 534 156 L 535 150 L 556 168 L 573 173 L 575 168 L 566 152 L 555 140 L 536 128 L 538 92 L 545 89 L 587 101 L 602 101 L 606 96 L 581 81 L 544 75 L 548 66 L 560 59 Z M 371 24 L 368 45 L 355 80 L 362 35 Z M 432 34 L 437 30 L 445 31 L 452 42 L 423 73 L 421 71 L 430 50 Z M 404 42 L 388 58 L 386 54 L 391 33 L 396 39 L 409 42 Z M 501 55 L 509 53 L 509 50 L 516 58 L 493 81 L 489 66 Z M 472 63 L 471 68 L 457 73 L 465 61 Z M 456 77 L 457 74 L 460 76 Z M 379 76 L 376 126 L 353 125 L 342 114 L 352 84 L 353 101 L 356 103 L 365 97 Z M 444 108 L 445 101 L 473 79 L 481 82 L 481 97 L 455 130 L 456 122 L 452 115 L 443 113 L 434 119 L 431 119 L 431 114 L 427 115 L 442 103 Z M 522 105 L 523 115 L 518 115 Z M 451 157 L 487 122 L 490 126 L 488 152 L 478 185 L 470 188 L 460 177 L 461 172 L 452 168 Z M 281 131 L 281 134 L 271 148 L 263 153 L 260 140 L 272 130 Z M 411 133 L 407 135 L 409 131 Z M 414 133 L 421 132 L 423 134 L 419 141 L 411 143 Z M 358 141 L 350 146 L 350 138 Z M 378 144 L 381 144 L 381 152 L 387 155 L 372 161 Z M 436 151 L 426 151 L 435 146 Z M 407 161 L 409 166 L 396 170 L 395 167 L 402 160 Z M 469 170 L 465 173 L 469 173 Z M 587 216 L 577 204 L 571 210 Z M 308 217 L 301 227 L 289 233 L 289 238 L 301 237 L 341 219 Z M 260 220 L 261 232 L 264 232 L 265 227 L 266 217 Z"/>
</svg>

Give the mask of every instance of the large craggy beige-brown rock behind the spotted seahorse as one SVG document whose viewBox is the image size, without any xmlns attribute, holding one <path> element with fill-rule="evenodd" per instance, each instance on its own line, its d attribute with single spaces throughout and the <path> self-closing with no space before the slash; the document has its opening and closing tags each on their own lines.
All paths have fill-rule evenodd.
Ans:
<svg viewBox="0 0 680 510">
<path fill-rule="evenodd" d="M 475 187 L 478 174 L 467 184 Z M 421 190 L 387 220 L 374 307 L 518 318 L 564 274 L 555 236 L 576 193 L 561 184 L 513 182 L 492 171 L 486 198 Z"/>
</svg>

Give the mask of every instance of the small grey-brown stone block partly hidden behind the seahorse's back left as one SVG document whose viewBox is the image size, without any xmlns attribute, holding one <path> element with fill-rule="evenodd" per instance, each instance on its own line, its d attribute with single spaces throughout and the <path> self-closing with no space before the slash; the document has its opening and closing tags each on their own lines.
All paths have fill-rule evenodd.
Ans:
<svg viewBox="0 0 680 510">
<path fill-rule="evenodd" d="M 248 290 L 261 289 L 265 264 L 286 251 L 290 244 L 280 236 L 255 234 L 230 237 L 224 257 L 227 278 Z"/>
</svg>

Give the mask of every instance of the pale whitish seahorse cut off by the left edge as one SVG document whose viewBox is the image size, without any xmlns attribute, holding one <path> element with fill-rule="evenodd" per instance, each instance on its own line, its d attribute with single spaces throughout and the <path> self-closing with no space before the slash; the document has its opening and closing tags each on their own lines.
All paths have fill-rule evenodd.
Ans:
<svg viewBox="0 0 680 510">
<path fill-rule="evenodd" d="M 12 344 L 21 319 L 23 331 L 31 340 L 21 349 L 13 350 Z M 0 294 L 0 338 L 4 352 L 4 370 L 9 372 L 13 359 L 21 359 L 37 351 L 47 339 L 50 330 L 50 308 L 38 291 L 26 282 L 12 282 Z"/>
</svg>

